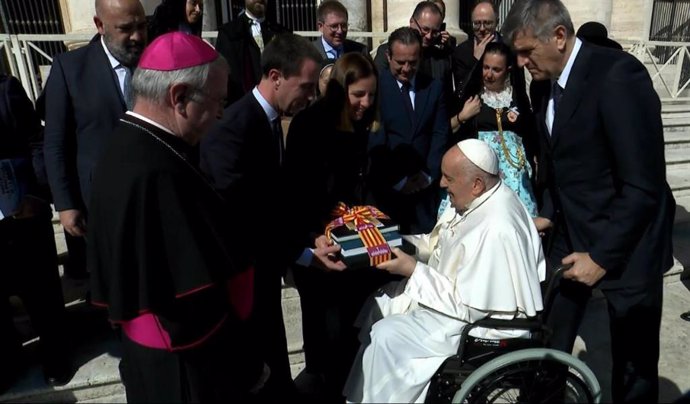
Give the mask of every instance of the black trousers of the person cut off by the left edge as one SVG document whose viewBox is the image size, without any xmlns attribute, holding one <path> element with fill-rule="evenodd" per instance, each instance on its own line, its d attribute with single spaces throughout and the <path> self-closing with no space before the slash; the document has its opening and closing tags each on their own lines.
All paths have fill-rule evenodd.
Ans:
<svg viewBox="0 0 690 404">
<path fill-rule="evenodd" d="M 0 221 L 0 259 L 0 357 L 16 360 L 21 350 L 9 304 L 10 296 L 19 296 L 40 337 L 44 366 L 63 360 L 65 303 L 50 214 Z M 12 366 L 0 361 L 0 375 Z"/>
</svg>

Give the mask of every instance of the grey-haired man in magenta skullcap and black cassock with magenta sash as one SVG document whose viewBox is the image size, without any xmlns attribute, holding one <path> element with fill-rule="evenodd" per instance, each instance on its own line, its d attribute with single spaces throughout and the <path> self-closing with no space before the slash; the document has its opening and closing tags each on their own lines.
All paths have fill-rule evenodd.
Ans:
<svg viewBox="0 0 690 404">
<path fill-rule="evenodd" d="M 93 171 L 93 302 L 122 328 L 130 403 L 247 402 L 270 372 L 245 321 L 252 269 L 192 157 L 221 116 L 227 69 L 194 35 L 158 37 Z"/>
</svg>

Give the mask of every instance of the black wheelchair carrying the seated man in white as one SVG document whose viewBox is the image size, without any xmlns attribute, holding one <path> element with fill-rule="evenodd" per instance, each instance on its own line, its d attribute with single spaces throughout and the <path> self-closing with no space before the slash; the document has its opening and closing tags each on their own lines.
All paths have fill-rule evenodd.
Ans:
<svg viewBox="0 0 690 404">
<path fill-rule="evenodd" d="M 484 319 L 466 326 L 455 355 L 431 379 L 425 403 L 598 403 L 601 388 L 579 359 L 545 348 L 550 302 L 568 267 L 548 280 L 544 310 L 527 319 Z M 469 335 L 476 327 L 529 331 L 530 337 L 490 340 Z"/>
</svg>

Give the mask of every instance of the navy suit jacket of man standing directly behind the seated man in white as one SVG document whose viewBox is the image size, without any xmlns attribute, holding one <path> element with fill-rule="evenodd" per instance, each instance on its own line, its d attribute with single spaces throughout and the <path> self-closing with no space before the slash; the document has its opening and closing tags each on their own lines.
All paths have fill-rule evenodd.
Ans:
<svg viewBox="0 0 690 404">
<path fill-rule="evenodd" d="M 416 74 L 413 120 L 390 70 L 381 70 L 379 80 L 381 128 L 369 143 L 376 199 L 391 216 L 401 209 L 394 219 L 408 227 L 404 231 L 426 232 L 436 223 L 441 159 L 450 139 L 443 85 L 421 72 Z M 393 189 L 420 170 L 432 179 L 427 192 L 405 196 Z"/>
</svg>

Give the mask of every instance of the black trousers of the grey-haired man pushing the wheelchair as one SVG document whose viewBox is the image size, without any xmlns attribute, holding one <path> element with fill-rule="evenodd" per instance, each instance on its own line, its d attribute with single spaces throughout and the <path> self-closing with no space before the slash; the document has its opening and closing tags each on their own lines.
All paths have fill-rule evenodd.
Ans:
<svg viewBox="0 0 690 404">
<path fill-rule="evenodd" d="M 552 266 L 560 264 L 566 251 L 565 243 L 557 239 L 549 254 Z M 570 353 L 592 289 L 566 279 L 559 286 L 547 318 L 553 330 L 550 346 Z M 663 278 L 602 292 L 610 318 L 613 402 L 657 402 Z"/>
</svg>

